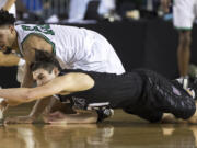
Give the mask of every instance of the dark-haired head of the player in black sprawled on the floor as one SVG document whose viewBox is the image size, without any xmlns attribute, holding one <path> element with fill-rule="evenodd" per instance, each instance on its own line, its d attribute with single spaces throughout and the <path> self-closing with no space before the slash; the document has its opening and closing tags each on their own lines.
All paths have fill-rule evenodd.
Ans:
<svg viewBox="0 0 197 148">
<path fill-rule="evenodd" d="M 35 61 L 31 65 L 31 70 L 37 86 L 42 86 L 56 78 L 61 68 L 55 55 L 35 50 Z"/>
</svg>

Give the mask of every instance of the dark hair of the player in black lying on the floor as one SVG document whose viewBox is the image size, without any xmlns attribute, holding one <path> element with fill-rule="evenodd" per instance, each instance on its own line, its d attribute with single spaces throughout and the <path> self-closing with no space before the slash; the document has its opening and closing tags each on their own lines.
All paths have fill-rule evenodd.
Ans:
<svg viewBox="0 0 197 148">
<path fill-rule="evenodd" d="M 56 59 L 54 54 L 37 49 L 35 49 L 35 61 L 31 64 L 30 68 L 32 71 L 35 71 L 38 68 L 43 68 L 48 72 L 51 72 L 54 68 L 61 70 L 59 61 Z"/>
</svg>

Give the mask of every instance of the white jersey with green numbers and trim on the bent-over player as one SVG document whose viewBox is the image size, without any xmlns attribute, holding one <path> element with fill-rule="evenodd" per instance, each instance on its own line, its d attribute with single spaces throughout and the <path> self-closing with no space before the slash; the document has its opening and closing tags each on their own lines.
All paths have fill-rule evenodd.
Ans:
<svg viewBox="0 0 197 148">
<path fill-rule="evenodd" d="M 69 68 L 103 72 L 124 72 L 121 62 L 113 47 L 96 32 L 76 26 L 49 24 L 21 24 L 16 25 L 15 30 L 18 32 L 18 41 L 21 44 L 31 34 L 43 36 L 51 44 L 56 56 Z M 97 44 L 102 46 L 97 46 Z M 21 53 L 23 54 L 22 48 Z M 112 68 L 113 70 L 111 70 Z"/>
</svg>

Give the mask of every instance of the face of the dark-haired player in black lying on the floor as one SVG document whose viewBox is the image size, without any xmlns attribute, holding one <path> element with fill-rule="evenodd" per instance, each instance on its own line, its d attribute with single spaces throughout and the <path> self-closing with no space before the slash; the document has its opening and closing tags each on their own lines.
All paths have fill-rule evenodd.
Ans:
<svg viewBox="0 0 197 148">
<path fill-rule="evenodd" d="M 47 70 L 39 68 L 33 71 L 33 79 L 36 81 L 37 86 L 45 84 L 56 78 L 57 75 L 55 70 L 48 72 Z"/>
</svg>

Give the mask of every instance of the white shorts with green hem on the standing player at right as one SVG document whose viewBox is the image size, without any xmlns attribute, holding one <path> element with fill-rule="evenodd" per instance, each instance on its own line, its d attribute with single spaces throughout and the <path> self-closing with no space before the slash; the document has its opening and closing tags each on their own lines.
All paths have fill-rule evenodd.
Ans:
<svg viewBox="0 0 197 148">
<path fill-rule="evenodd" d="M 192 30 L 197 16 L 197 0 L 174 0 L 173 24 L 179 30 Z"/>
</svg>

